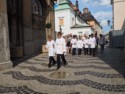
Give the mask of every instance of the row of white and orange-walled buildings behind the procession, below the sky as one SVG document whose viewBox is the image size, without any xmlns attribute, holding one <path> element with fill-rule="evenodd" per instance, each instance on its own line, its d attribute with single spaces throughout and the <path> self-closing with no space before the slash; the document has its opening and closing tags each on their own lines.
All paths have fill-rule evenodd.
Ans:
<svg viewBox="0 0 125 94">
<path fill-rule="evenodd" d="M 75 0 L 58 0 L 55 7 L 55 31 L 62 31 L 63 35 L 90 35 L 91 33 L 102 33 L 99 22 L 90 13 L 88 8 L 83 12 L 79 9 L 79 2 Z"/>
</svg>

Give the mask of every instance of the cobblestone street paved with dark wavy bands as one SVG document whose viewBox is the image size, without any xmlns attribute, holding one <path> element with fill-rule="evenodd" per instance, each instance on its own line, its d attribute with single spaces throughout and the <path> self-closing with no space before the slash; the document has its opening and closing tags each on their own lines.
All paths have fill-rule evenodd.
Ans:
<svg viewBox="0 0 125 94">
<path fill-rule="evenodd" d="M 0 72 L 1 94 L 125 94 L 125 60 L 120 49 L 103 55 L 67 55 L 67 66 L 48 68 L 47 54 Z M 63 76 L 65 76 L 63 78 Z"/>
</svg>

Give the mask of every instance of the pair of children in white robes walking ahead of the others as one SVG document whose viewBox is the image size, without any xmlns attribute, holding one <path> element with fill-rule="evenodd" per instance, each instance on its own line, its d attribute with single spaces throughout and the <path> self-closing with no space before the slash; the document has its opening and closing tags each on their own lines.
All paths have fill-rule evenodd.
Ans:
<svg viewBox="0 0 125 94">
<path fill-rule="evenodd" d="M 62 37 L 62 33 L 57 33 L 57 39 L 54 42 L 52 37 L 48 37 L 48 42 L 46 44 L 46 48 L 48 49 L 49 55 L 49 64 L 48 67 L 55 65 L 57 63 L 57 69 L 59 69 L 63 63 L 63 65 L 67 65 L 67 61 L 65 59 L 66 53 L 66 42 L 65 39 Z M 55 61 L 54 56 L 57 55 L 57 61 Z"/>
</svg>

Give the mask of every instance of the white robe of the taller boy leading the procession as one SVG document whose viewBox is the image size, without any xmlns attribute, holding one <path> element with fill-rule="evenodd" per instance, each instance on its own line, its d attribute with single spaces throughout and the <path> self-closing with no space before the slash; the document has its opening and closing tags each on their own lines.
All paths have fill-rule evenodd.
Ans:
<svg viewBox="0 0 125 94">
<path fill-rule="evenodd" d="M 55 43 L 56 54 L 66 53 L 66 42 L 64 38 L 57 38 Z"/>
</svg>

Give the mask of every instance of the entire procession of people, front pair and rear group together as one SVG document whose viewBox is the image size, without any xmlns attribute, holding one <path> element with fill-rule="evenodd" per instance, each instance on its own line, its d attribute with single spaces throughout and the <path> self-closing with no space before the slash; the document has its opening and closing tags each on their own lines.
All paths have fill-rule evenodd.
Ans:
<svg viewBox="0 0 125 94">
<path fill-rule="evenodd" d="M 48 49 L 49 55 L 49 64 L 48 67 L 57 64 L 57 69 L 61 67 L 63 64 L 64 66 L 67 65 L 67 61 L 65 59 L 65 54 L 67 51 L 72 52 L 72 55 L 76 55 L 78 50 L 78 55 L 82 54 L 82 50 L 84 51 L 84 55 L 92 55 L 95 57 L 96 49 L 98 48 L 98 43 L 101 47 L 101 52 L 104 50 L 104 38 L 100 35 L 100 38 L 94 36 L 93 34 L 84 37 L 77 38 L 74 35 L 70 40 L 66 41 L 65 38 L 62 37 L 62 33 L 57 33 L 57 39 L 54 42 L 51 36 L 48 37 L 48 42 L 46 44 L 46 48 Z M 57 55 L 57 61 L 54 59 L 55 53 Z"/>
</svg>

